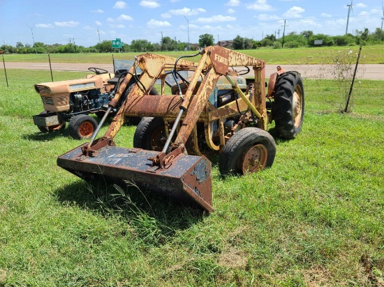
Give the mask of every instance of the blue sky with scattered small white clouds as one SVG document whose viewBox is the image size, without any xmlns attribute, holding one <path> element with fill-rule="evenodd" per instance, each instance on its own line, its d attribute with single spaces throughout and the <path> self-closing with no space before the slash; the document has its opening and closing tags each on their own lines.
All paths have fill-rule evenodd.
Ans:
<svg viewBox="0 0 384 287">
<path fill-rule="evenodd" d="M 353 0 L 352 0 L 353 1 Z M 215 42 L 237 35 L 261 40 L 275 34 L 311 30 L 344 35 L 351 0 L 0 0 L 0 45 L 44 42 L 90 47 L 103 40 L 145 39 L 161 42 L 168 36 L 198 43 L 212 34 Z M 355 0 L 348 33 L 381 27 L 383 3 Z M 32 37 L 33 34 L 33 37 Z M 100 37 L 100 38 L 99 38 Z M 33 40 L 34 39 L 34 40 Z"/>
</svg>

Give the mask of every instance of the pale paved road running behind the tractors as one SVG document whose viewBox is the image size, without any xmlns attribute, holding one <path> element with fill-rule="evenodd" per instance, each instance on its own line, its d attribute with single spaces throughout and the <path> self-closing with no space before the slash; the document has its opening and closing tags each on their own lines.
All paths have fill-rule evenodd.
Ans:
<svg viewBox="0 0 384 287">
<path fill-rule="evenodd" d="M 89 67 L 102 68 L 113 71 L 112 64 L 89 64 L 89 63 L 52 63 L 52 70 L 63 71 L 78 71 L 86 72 Z M 302 74 L 303 78 L 316 79 L 332 79 L 332 65 L 281 65 L 286 70 L 296 70 Z M 49 70 L 49 63 L 21 63 L 21 62 L 6 62 L 7 69 L 28 69 L 28 70 Z M 355 65 L 353 65 L 353 69 Z M 276 65 L 266 65 L 265 75 L 268 77 L 273 72 L 276 72 Z M 246 75 L 253 75 L 253 70 Z M 384 65 L 359 65 L 357 79 L 384 79 Z"/>
</svg>

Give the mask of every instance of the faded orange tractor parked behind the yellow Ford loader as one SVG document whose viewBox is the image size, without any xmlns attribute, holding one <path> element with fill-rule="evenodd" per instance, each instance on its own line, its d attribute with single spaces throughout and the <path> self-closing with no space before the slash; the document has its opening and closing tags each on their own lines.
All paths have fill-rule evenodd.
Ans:
<svg viewBox="0 0 384 287">
<path fill-rule="evenodd" d="M 132 64 L 133 61 L 114 60 L 113 73 L 101 68 L 89 68 L 94 74 L 84 79 L 36 84 L 34 87 L 41 97 L 44 111 L 33 116 L 34 124 L 40 132 L 52 132 L 64 129 L 69 123 L 68 133 L 71 137 L 88 139 L 97 127 L 96 119 L 89 114 L 103 117 Z M 140 76 L 140 70 L 135 72 L 111 115 L 118 111 L 130 87 Z M 156 89 L 152 93 L 157 94 Z M 137 124 L 140 118 L 131 118 L 131 121 Z"/>
</svg>

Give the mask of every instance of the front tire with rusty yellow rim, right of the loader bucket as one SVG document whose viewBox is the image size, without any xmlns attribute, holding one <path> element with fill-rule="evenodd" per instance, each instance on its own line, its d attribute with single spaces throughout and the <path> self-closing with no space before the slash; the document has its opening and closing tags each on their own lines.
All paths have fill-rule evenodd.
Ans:
<svg viewBox="0 0 384 287">
<path fill-rule="evenodd" d="M 220 156 L 221 174 L 256 173 L 272 166 L 276 143 L 265 130 L 244 127 L 234 134 L 224 146 Z"/>
</svg>

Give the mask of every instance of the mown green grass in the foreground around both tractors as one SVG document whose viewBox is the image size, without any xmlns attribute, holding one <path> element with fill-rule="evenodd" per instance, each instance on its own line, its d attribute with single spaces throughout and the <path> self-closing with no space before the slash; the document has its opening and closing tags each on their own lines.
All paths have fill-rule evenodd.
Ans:
<svg viewBox="0 0 384 287">
<path fill-rule="evenodd" d="M 33 84 L 49 72 L 7 72 L 0 286 L 383 286 L 384 81 L 357 81 L 352 112 L 340 114 L 336 82 L 304 79 L 302 132 L 276 138 L 274 165 L 258 174 L 222 178 L 214 161 L 207 215 L 60 169 L 57 157 L 82 141 L 34 126 Z M 117 146 L 132 146 L 134 130 L 124 126 Z"/>
</svg>

